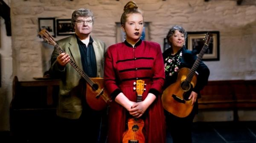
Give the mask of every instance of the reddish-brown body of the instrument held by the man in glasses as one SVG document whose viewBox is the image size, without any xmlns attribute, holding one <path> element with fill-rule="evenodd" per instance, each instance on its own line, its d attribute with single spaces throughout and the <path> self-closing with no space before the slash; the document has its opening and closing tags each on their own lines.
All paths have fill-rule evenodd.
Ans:
<svg viewBox="0 0 256 143">
<path fill-rule="evenodd" d="M 111 103 L 111 98 L 104 90 L 104 79 L 96 77 L 90 78 L 95 84 L 91 87 L 90 84 L 86 84 L 86 102 L 90 108 L 100 111 Z"/>
</svg>

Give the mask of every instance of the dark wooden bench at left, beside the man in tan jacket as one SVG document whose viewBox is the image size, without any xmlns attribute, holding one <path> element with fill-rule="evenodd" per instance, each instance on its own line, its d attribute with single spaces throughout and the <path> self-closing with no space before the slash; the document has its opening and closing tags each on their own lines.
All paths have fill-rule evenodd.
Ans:
<svg viewBox="0 0 256 143">
<path fill-rule="evenodd" d="M 59 80 L 13 79 L 10 133 L 17 142 L 36 142 L 55 133 Z"/>
</svg>

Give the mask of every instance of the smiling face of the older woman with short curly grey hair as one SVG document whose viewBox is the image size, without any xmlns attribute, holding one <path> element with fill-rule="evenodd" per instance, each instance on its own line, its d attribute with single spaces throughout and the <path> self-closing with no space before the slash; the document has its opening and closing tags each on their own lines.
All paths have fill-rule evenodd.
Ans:
<svg viewBox="0 0 256 143">
<path fill-rule="evenodd" d="M 176 30 L 169 41 L 172 43 L 172 48 L 181 48 L 185 43 L 185 36 Z"/>
</svg>

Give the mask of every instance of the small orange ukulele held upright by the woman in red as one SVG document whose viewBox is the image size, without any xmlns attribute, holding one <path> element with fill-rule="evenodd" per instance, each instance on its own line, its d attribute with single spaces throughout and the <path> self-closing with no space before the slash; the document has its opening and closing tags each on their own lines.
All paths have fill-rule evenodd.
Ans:
<svg viewBox="0 0 256 143">
<path fill-rule="evenodd" d="M 137 80 L 136 92 L 137 92 L 137 102 L 141 102 L 142 94 L 144 89 L 143 80 Z M 129 118 L 128 119 L 128 130 L 123 133 L 122 143 L 145 143 L 145 137 L 143 135 L 142 129 L 144 126 L 144 121 L 140 118 Z"/>
</svg>

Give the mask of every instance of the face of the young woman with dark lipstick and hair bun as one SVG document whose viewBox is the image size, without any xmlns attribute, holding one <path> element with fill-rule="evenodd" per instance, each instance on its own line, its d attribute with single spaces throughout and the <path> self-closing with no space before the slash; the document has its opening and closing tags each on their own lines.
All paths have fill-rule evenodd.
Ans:
<svg viewBox="0 0 256 143">
<path fill-rule="evenodd" d="M 143 16 L 142 14 L 128 14 L 125 25 L 122 30 L 126 34 L 127 42 L 137 42 L 143 31 Z"/>
</svg>

